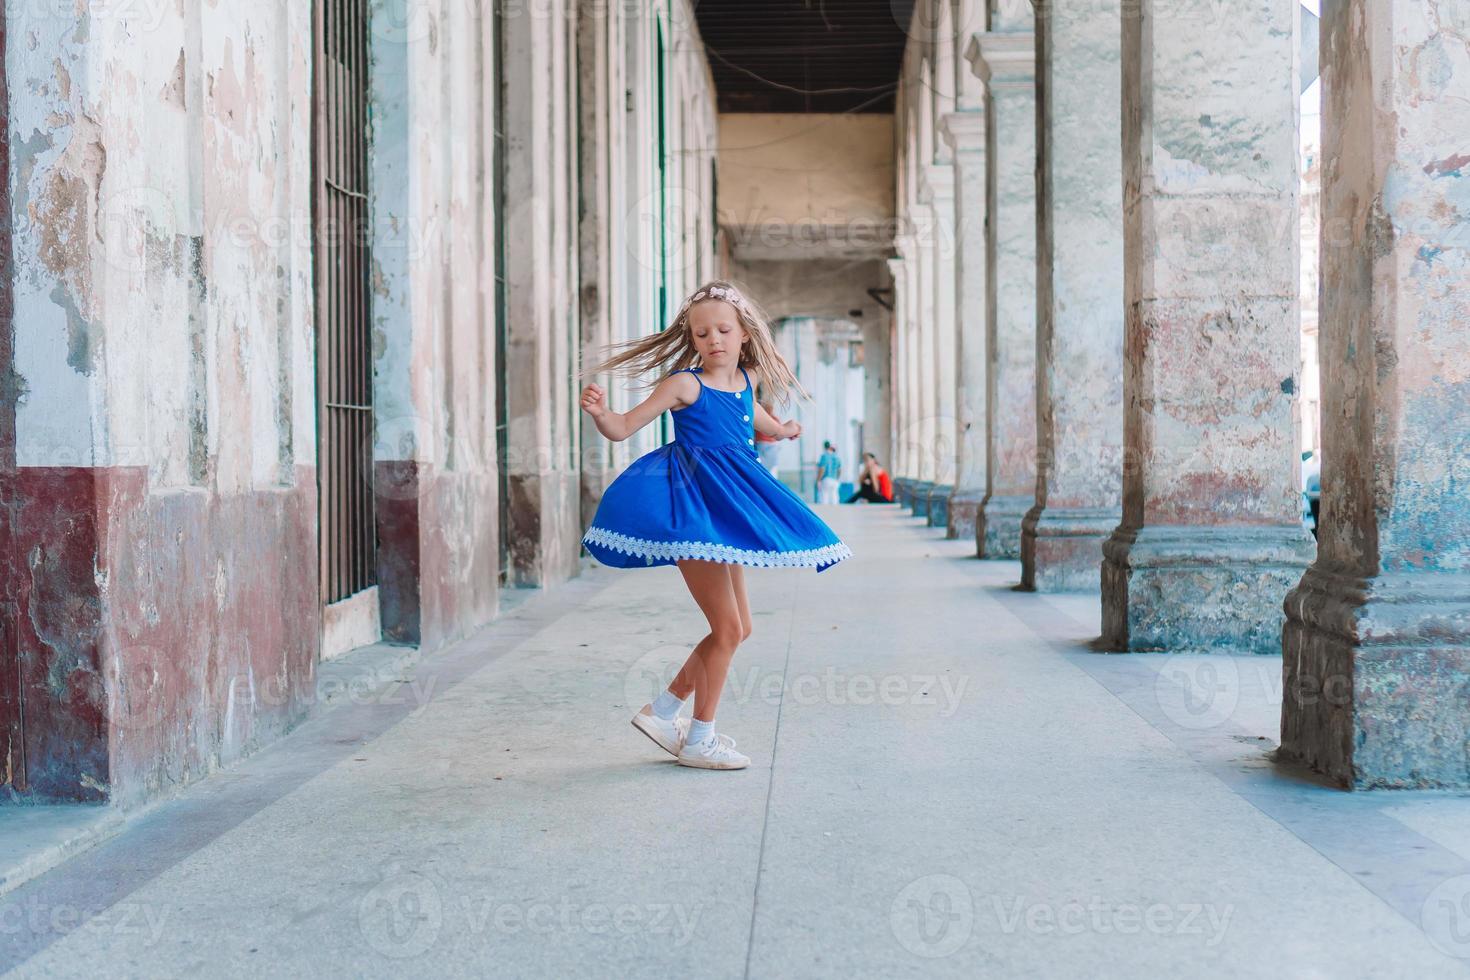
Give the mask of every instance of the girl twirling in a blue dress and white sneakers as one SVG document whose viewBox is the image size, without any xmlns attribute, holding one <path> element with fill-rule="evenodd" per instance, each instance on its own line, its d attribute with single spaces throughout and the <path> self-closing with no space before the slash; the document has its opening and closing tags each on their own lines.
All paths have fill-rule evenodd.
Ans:
<svg viewBox="0 0 1470 980">
<path fill-rule="evenodd" d="M 667 410 L 673 442 L 609 485 L 582 544 L 619 569 L 676 564 L 710 623 L 669 689 L 634 716 L 634 727 L 682 765 L 745 768 L 750 758 L 735 751 L 735 741 L 714 732 L 731 660 L 751 632 L 744 566 L 822 572 L 853 554 L 756 453 L 756 432 L 801 435 L 797 422 L 776 422 L 756 401 L 756 386 L 781 403 L 791 389 L 810 395 L 776 350 L 760 307 L 726 281 L 695 289 L 666 331 L 620 347 L 585 373 L 657 372 L 653 394 L 619 413 L 591 383 L 582 389 L 582 410 L 617 442 Z M 694 717 L 682 718 L 691 693 Z"/>
</svg>

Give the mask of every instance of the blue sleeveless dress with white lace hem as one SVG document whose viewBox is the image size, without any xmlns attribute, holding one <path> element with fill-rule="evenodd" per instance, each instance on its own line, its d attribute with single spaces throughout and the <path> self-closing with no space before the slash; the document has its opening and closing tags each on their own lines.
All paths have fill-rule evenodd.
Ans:
<svg viewBox="0 0 1470 980">
<path fill-rule="evenodd" d="M 700 367 L 686 369 L 697 379 Z M 617 569 L 706 558 L 760 567 L 832 567 L 853 555 L 756 454 L 756 401 L 710 388 L 673 416 L 673 442 L 638 457 L 603 492 L 582 544 Z"/>
</svg>

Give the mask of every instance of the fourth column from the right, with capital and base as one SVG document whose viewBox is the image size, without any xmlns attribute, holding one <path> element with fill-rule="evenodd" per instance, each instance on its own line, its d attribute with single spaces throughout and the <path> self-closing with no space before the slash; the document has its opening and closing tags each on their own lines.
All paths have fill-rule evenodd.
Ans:
<svg viewBox="0 0 1470 980">
<path fill-rule="evenodd" d="M 975 538 L 982 558 L 1019 558 L 1022 519 L 1036 500 L 1035 38 L 986 31 L 966 56 L 989 94 L 988 483 Z"/>
</svg>

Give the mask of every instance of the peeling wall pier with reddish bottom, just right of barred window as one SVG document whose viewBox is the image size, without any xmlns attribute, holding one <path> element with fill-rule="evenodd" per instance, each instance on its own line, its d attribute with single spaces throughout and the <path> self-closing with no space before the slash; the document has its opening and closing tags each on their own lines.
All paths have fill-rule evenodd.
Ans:
<svg viewBox="0 0 1470 980">
<path fill-rule="evenodd" d="M 498 605 L 494 32 L 453 0 L 370 16 L 379 601 L 435 648 Z"/>
</svg>

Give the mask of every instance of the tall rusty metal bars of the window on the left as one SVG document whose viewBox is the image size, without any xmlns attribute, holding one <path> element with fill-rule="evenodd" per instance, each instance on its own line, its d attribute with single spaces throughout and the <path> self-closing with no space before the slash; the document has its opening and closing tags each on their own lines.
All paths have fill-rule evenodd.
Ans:
<svg viewBox="0 0 1470 980">
<path fill-rule="evenodd" d="M 316 381 L 320 589 L 376 582 L 368 213 L 368 0 L 316 4 Z"/>
</svg>

